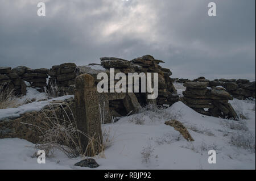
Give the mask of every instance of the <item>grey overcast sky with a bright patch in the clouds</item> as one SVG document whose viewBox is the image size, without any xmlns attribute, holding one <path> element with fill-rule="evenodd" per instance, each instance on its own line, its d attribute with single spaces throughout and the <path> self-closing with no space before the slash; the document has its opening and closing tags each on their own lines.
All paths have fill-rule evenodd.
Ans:
<svg viewBox="0 0 256 181">
<path fill-rule="evenodd" d="M 172 77 L 255 79 L 255 0 L 0 0 L 0 66 L 144 54 L 164 60 Z"/>
</svg>

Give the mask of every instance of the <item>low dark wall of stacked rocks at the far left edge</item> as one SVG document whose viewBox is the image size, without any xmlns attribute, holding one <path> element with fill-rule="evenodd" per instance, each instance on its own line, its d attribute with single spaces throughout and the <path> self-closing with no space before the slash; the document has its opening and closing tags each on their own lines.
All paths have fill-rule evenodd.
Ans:
<svg viewBox="0 0 256 181">
<path fill-rule="evenodd" d="M 48 71 L 48 69 L 30 69 L 26 66 L 18 66 L 14 69 L 2 67 L 0 68 L 0 83 L 5 83 L 10 89 L 14 89 L 16 94 L 26 95 L 24 81 L 29 82 L 31 87 L 44 91 Z"/>
</svg>

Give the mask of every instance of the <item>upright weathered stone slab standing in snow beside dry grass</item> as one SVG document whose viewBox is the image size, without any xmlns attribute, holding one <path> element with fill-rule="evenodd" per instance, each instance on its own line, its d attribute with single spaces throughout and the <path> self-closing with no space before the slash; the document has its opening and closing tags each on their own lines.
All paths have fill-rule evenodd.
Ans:
<svg viewBox="0 0 256 181">
<path fill-rule="evenodd" d="M 89 137 L 93 138 L 93 146 L 96 153 L 100 151 L 102 143 L 102 132 L 101 132 L 101 117 L 99 108 L 99 99 L 96 86 L 94 85 L 94 78 L 89 74 L 82 74 L 76 77 L 76 92 L 75 92 L 75 105 L 76 105 L 76 121 L 77 128 L 86 133 Z M 85 151 L 86 146 L 89 143 L 88 137 L 81 136 L 82 149 Z M 91 150 L 87 149 L 86 154 L 92 155 Z"/>
</svg>

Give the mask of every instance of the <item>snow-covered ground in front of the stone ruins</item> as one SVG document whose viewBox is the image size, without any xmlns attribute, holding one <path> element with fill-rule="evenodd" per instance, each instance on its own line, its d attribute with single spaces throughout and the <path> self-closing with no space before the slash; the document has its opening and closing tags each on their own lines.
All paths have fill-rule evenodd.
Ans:
<svg viewBox="0 0 256 181">
<path fill-rule="evenodd" d="M 178 92 L 182 92 L 178 89 Z M 97 169 L 255 169 L 255 100 L 230 101 L 241 121 L 204 116 L 181 102 L 165 110 L 143 109 L 102 125 L 112 142 Z M 195 141 L 188 142 L 164 121 L 177 119 Z M 208 163 L 208 151 L 217 153 Z M 56 150 L 45 164 L 32 155 L 34 144 L 19 138 L 0 139 L 0 169 L 89 169 L 74 166 L 82 158 L 68 158 Z"/>
</svg>

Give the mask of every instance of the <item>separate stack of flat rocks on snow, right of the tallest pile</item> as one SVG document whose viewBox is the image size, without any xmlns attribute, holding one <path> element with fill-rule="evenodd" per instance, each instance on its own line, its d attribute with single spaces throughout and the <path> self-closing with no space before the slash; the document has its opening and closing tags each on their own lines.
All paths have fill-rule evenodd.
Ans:
<svg viewBox="0 0 256 181">
<path fill-rule="evenodd" d="M 228 103 L 233 97 L 222 87 L 208 87 L 208 82 L 185 82 L 186 90 L 181 100 L 193 110 L 214 117 L 237 119 L 237 114 Z"/>
</svg>

